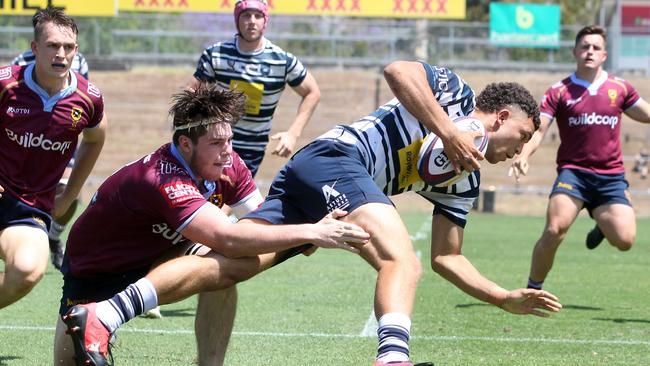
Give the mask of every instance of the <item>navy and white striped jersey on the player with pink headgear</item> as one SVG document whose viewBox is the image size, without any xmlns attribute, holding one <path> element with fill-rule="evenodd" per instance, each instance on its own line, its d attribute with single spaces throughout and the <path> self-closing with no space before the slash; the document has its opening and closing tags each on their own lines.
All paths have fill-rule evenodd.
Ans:
<svg viewBox="0 0 650 366">
<path fill-rule="evenodd" d="M 266 38 L 261 50 L 250 53 L 241 51 L 237 43 L 235 36 L 206 48 L 194 77 L 246 95 L 246 114 L 233 126 L 233 147 L 264 151 L 285 85 L 300 85 L 307 69 L 293 54 Z"/>
</svg>

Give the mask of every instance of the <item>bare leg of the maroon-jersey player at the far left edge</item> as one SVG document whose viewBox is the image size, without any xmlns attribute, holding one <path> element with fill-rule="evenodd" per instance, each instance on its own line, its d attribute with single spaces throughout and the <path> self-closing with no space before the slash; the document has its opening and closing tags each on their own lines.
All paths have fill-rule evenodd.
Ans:
<svg viewBox="0 0 650 366">
<path fill-rule="evenodd" d="M 0 309 L 27 295 L 47 268 L 47 234 L 42 228 L 16 225 L 0 231 Z"/>
</svg>

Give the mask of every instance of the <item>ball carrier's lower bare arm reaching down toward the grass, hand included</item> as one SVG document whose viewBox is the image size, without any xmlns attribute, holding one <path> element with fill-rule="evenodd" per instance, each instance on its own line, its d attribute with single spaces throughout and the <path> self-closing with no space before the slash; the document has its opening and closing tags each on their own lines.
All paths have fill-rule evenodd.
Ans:
<svg viewBox="0 0 650 366">
<path fill-rule="evenodd" d="M 485 278 L 461 253 L 463 229 L 441 214 L 431 224 L 431 266 L 436 273 L 468 295 L 513 314 L 547 317 L 562 308 L 557 297 L 543 290 L 508 291 Z"/>
</svg>

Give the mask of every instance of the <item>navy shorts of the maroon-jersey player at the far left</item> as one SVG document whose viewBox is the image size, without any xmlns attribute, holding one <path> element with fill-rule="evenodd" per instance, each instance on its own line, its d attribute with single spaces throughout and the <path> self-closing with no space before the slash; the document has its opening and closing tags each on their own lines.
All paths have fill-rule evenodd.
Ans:
<svg viewBox="0 0 650 366">
<path fill-rule="evenodd" d="M 26 204 L 6 191 L 1 194 L 0 230 L 9 226 L 27 225 L 48 232 L 52 222 L 52 217 L 49 214 Z"/>
</svg>

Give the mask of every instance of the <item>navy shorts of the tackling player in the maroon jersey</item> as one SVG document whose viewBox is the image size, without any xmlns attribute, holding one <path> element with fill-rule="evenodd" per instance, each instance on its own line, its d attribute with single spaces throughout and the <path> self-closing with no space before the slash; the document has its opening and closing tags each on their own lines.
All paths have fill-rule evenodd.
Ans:
<svg viewBox="0 0 650 366">
<path fill-rule="evenodd" d="M 67 262 L 67 256 L 64 262 Z M 65 265 L 67 268 L 67 264 Z M 78 304 L 99 302 L 112 298 L 130 284 L 143 278 L 149 272 L 149 267 L 127 273 L 103 275 L 97 277 L 75 277 L 64 269 L 63 294 L 59 314 L 65 315 L 71 307 Z"/>
</svg>

